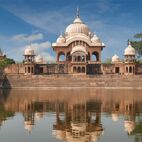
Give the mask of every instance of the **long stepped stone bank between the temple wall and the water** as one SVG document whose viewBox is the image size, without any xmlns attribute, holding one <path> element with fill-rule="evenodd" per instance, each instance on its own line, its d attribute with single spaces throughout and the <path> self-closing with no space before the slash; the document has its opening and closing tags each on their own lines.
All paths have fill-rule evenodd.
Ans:
<svg viewBox="0 0 142 142">
<path fill-rule="evenodd" d="M 1 88 L 138 88 L 142 89 L 142 75 L 7 75 Z"/>
</svg>

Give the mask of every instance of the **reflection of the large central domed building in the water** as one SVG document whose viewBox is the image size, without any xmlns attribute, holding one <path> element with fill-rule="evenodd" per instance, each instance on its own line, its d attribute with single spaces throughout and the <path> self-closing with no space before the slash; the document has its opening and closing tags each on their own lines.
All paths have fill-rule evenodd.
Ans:
<svg viewBox="0 0 142 142">
<path fill-rule="evenodd" d="M 64 117 L 59 108 L 56 104 L 56 124 L 53 126 L 56 138 L 68 142 L 90 142 L 97 141 L 102 135 L 101 102 L 64 104 Z"/>
</svg>

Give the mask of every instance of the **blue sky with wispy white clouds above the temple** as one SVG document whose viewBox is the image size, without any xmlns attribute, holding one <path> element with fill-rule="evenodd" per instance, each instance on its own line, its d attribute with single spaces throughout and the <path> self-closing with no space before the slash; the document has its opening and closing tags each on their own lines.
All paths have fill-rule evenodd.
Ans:
<svg viewBox="0 0 142 142">
<path fill-rule="evenodd" d="M 83 22 L 106 45 L 102 60 L 114 54 L 123 58 L 128 39 L 142 32 L 141 0 L 0 0 L 0 48 L 22 61 L 31 43 L 36 55 L 54 61 L 51 44 L 73 22 L 77 7 Z"/>
</svg>

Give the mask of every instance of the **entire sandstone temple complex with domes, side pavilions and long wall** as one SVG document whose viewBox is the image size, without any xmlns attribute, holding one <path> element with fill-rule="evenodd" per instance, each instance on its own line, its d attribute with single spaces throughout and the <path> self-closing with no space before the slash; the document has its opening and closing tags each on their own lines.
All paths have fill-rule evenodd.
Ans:
<svg viewBox="0 0 142 142">
<path fill-rule="evenodd" d="M 73 22 L 66 27 L 65 32 L 57 38 L 56 42 L 52 43 L 52 49 L 56 52 L 56 63 L 45 63 L 43 57 L 36 56 L 32 45 L 29 45 L 24 51 L 23 64 L 9 66 L 5 72 L 24 75 L 134 75 L 142 73 L 142 65 L 136 63 L 136 51 L 130 42 L 124 50 L 124 59 L 120 59 L 115 54 L 111 63 L 102 63 L 103 48 L 105 48 L 105 44 L 89 30 L 77 10 Z"/>
</svg>

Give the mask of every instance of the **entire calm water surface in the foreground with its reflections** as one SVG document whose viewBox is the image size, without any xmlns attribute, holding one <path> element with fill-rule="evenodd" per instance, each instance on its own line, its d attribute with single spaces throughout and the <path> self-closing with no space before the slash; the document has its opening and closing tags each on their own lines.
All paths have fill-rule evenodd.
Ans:
<svg viewBox="0 0 142 142">
<path fill-rule="evenodd" d="M 142 90 L 0 90 L 0 142 L 142 142 Z"/>
</svg>

